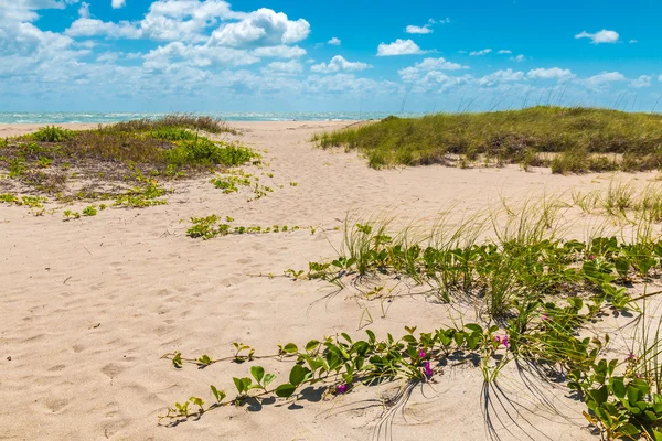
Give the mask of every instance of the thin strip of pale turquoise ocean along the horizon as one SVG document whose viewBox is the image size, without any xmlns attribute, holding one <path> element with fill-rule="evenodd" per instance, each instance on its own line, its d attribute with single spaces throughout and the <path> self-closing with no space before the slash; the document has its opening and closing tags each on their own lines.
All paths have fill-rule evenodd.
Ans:
<svg viewBox="0 0 662 441">
<path fill-rule="evenodd" d="M 168 114 L 139 112 L 0 112 L 0 123 L 43 123 L 66 122 L 107 123 L 140 118 L 158 118 Z M 225 121 L 343 121 L 386 118 L 389 112 L 203 112 L 200 115 L 221 118 Z M 423 114 L 401 114 L 399 117 L 419 117 Z"/>
</svg>

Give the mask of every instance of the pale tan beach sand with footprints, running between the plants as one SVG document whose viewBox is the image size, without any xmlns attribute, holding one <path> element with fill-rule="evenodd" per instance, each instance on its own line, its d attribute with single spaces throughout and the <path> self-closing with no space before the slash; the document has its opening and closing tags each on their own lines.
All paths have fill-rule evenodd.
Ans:
<svg viewBox="0 0 662 441">
<path fill-rule="evenodd" d="M 231 377 L 245 375 L 248 367 L 220 363 L 178 370 L 160 357 L 174 351 L 227 356 L 233 342 L 271 354 L 279 342 L 301 344 L 337 332 L 361 335 L 365 305 L 345 293 L 316 302 L 330 292 L 327 284 L 260 277 L 332 257 L 342 238 L 334 228 L 348 213 L 391 211 L 431 219 L 455 204 L 460 216 L 484 209 L 500 194 L 516 198 L 589 190 L 610 179 L 516 166 L 375 171 L 355 153 L 322 151 L 308 142 L 317 131 L 346 123 L 233 123 L 244 131 L 242 142 L 267 150 L 268 166 L 255 172 L 265 173 L 260 182 L 275 191 L 254 202 L 247 202 L 246 189 L 223 194 L 200 179 L 178 184 L 168 205 L 106 209 L 79 220 L 63 222 L 63 207 L 54 204 L 49 208 L 60 209 L 45 216 L 0 204 L 0 439 L 370 439 L 383 411 L 376 398 L 397 385 L 331 400 L 310 391 L 297 402 L 253 402 L 161 427 L 157 416 L 169 405 L 192 395 L 211 399 L 210 384 L 232 395 Z M 36 127 L 0 125 L 0 136 Z M 630 175 L 642 182 L 650 178 Z M 212 213 L 232 216 L 237 225 L 318 229 L 314 235 L 302 228 L 206 241 L 186 237 L 190 217 Z M 374 319 L 369 327 L 380 335 L 402 335 L 405 325 L 414 324 L 433 330 L 457 318 L 449 306 L 420 297 L 398 299 L 385 318 L 378 305 L 369 308 Z M 263 365 L 268 372 L 289 372 L 288 364 Z M 526 433 L 536 440 L 596 439 L 586 430 L 584 405 L 567 398 L 563 385 L 546 391 L 552 408 L 521 384 L 514 370 L 500 383 L 522 407 L 500 409 L 496 400 L 488 406 L 502 439 L 526 439 Z M 480 370 L 445 368 L 436 384 L 414 390 L 404 412 L 395 415 L 393 439 L 488 439 L 481 394 Z"/>
</svg>

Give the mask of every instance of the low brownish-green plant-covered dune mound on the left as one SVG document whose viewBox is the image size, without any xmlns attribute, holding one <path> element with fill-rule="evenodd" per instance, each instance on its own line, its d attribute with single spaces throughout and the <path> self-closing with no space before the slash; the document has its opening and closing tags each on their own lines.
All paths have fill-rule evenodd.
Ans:
<svg viewBox="0 0 662 441">
<path fill-rule="evenodd" d="M 96 130 L 43 127 L 0 143 L 0 191 L 73 202 L 116 198 L 117 206 L 163 203 L 173 180 L 259 162 L 259 154 L 210 133 L 235 132 L 191 115 L 118 122 Z"/>
</svg>

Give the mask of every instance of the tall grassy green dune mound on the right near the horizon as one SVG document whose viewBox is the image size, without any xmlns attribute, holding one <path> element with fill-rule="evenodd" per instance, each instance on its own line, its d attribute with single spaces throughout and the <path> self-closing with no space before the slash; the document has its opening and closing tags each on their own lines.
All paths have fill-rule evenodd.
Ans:
<svg viewBox="0 0 662 441">
<path fill-rule="evenodd" d="M 597 108 L 388 117 L 313 138 L 322 148 L 359 150 L 371 166 L 520 163 L 555 173 L 662 166 L 662 116 Z"/>
</svg>

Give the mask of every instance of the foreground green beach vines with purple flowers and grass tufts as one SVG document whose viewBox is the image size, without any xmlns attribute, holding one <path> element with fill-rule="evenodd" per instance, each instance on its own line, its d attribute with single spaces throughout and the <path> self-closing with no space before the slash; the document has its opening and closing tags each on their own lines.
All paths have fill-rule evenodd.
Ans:
<svg viewBox="0 0 662 441">
<path fill-rule="evenodd" d="M 383 402 L 373 432 L 380 439 L 392 434 L 396 410 L 417 385 L 438 379 L 450 359 L 467 359 L 482 374 L 483 400 L 501 390 L 505 366 L 513 364 L 537 381 L 565 385 L 586 404 L 586 420 L 602 438 L 662 440 L 661 325 L 651 331 L 645 324 L 647 302 L 660 293 L 648 288 L 662 276 L 662 238 L 645 217 L 630 240 L 563 239 L 563 205 L 556 202 L 506 207 L 505 213 L 477 215 L 455 226 L 440 217 L 426 234 L 414 227 L 393 233 L 384 219 L 348 218 L 337 257 L 310 262 L 307 271 L 287 272 L 298 280 L 333 283 L 337 292 L 352 287 L 367 302 L 425 295 L 472 305 L 478 320 L 418 333 L 412 325 L 401 338 L 378 337 L 370 330 L 357 337 L 339 333 L 281 344 L 274 354 L 258 354 L 243 343 L 234 343 L 229 357 L 167 354 L 175 368 L 216 363 L 249 367 L 232 383 L 220 379 L 235 392 L 212 385 L 210 404 L 193 396 L 168 408 L 161 419 L 177 426 L 250 400 L 296 400 L 309 387 L 333 397 L 399 384 L 396 399 Z M 490 238 L 481 238 L 489 229 Z M 398 292 L 386 289 L 388 283 L 407 288 Z M 628 334 L 627 355 L 611 349 L 609 333 L 592 331 L 607 314 L 623 313 L 640 323 L 639 332 Z M 271 372 L 275 365 L 282 370 L 282 364 L 288 367 L 281 378 Z M 494 431 L 490 416 L 483 417 Z"/>
</svg>

